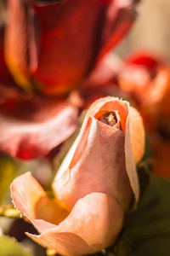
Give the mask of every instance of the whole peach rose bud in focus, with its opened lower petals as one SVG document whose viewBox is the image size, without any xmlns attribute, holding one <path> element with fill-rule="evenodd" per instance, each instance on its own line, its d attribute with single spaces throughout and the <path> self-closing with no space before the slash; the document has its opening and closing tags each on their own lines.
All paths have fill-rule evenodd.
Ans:
<svg viewBox="0 0 170 256">
<path fill-rule="evenodd" d="M 139 113 L 115 97 L 94 102 L 54 179 L 56 198 L 49 199 L 30 172 L 11 185 L 15 207 L 40 232 L 27 236 L 62 255 L 111 246 L 125 212 L 139 200 L 135 164 L 143 152 Z"/>
</svg>

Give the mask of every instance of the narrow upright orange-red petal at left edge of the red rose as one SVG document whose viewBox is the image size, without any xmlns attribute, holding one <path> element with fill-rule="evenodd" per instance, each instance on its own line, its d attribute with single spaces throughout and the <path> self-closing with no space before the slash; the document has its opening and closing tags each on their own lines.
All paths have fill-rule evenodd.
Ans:
<svg viewBox="0 0 170 256">
<path fill-rule="evenodd" d="M 19 44 L 20 38 L 20 44 Z M 5 60 L 17 84 L 31 90 L 30 69 L 37 67 L 37 38 L 34 14 L 25 1 L 8 0 L 8 25 L 5 30 Z"/>
</svg>

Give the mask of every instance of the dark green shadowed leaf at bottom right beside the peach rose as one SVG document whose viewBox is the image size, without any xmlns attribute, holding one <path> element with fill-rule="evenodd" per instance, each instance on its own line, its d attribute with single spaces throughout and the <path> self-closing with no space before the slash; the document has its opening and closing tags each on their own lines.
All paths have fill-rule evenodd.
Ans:
<svg viewBox="0 0 170 256">
<path fill-rule="evenodd" d="M 125 219 L 116 256 L 169 256 L 170 180 L 151 176 L 139 207 Z"/>
</svg>

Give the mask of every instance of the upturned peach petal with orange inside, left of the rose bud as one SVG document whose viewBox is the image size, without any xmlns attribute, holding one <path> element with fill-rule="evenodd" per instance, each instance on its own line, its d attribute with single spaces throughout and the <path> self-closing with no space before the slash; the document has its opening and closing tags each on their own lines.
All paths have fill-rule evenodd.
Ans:
<svg viewBox="0 0 170 256">
<path fill-rule="evenodd" d="M 26 215 L 40 232 L 59 224 L 69 213 L 58 201 L 48 198 L 41 185 L 31 176 L 31 172 L 14 179 L 11 195 L 14 206 Z"/>
</svg>

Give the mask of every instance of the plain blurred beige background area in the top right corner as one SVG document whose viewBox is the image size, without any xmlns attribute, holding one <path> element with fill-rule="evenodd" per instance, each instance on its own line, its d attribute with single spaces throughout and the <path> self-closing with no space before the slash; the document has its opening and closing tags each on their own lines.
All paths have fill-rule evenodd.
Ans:
<svg viewBox="0 0 170 256">
<path fill-rule="evenodd" d="M 121 55 L 147 49 L 170 62 L 170 1 L 143 0 L 129 36 L 116 49 Z"/>
</svg>

